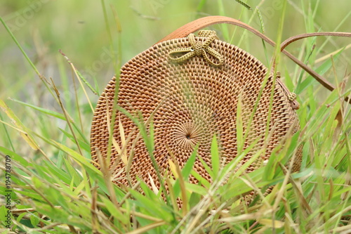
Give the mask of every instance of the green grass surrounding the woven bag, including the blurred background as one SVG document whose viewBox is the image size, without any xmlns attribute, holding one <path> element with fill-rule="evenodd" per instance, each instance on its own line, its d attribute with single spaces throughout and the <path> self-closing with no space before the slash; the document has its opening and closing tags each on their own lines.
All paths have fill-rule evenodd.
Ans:
<svg viewBox="0 0 351 234">
<path fill-rule="evenodd" d="M 115 186 L 110 171 L 91 164 L 89 146 L 93 108 L 112 75 L 177 27 L 204 15 L 226 15 L 264 28 L 276 42 L 303 32 L 347 32 L 348 0 L 286 1 L 286 8 L 274 0 L 33 2 L 37 5 L 8 1 L 0 9 L 8 26 L 7 31 L 0 27 L 0 191 L 6 194 L 5 156 L 10 155 L 15 191 L 12 230 L 348 233 L 351 229 L 351 109 L 343 100 L 351 91 L 350 39 L 312 37 L 286 48 L 337 86 L 333 92 L 286 56 L 278 57 L 283 82 L 298 94 L 301 129 L 272 154 L 266 167 L 250 174 L 245 173 L 249 163 L 233 170 L 249 149 L 239 150 L 235 160 L 221 167 L 214 137 L 212 167 L 207 167 L 213 182 L 192 169 L 194 150 L 183 169 L 170 162 L 174 177 L 162 180 L 170 191 L 165 202 L 161 190 L 148 188 L 143 181 L 133 188 Z M 276 50 L 249 32 L 230 25 L 211 29 L 270 66 Z M 241 105 L 237 138 L 245 134 L 240 130 L 240 112 Z M 146 131 L 150 123 L 133 121 L 153 158 L 152 131 Z M 238 141 L 238 148 L 243 149 L 242 144 Z M 283 165 L 300 144 L 300 172 L 284 174 Z M 259 154 L 252 160 L 255 157 Z M 190 175 L 201 185 L 189 183 Z M 269 186 L 272 193 L 265 195 Z M 253 202 L 242 202 L 252 191 L 257 194 Z M 180 210 L 177 199 L 183 202 Z M 6 212 L 1 205 L 1 226 L 6 225 Z"/>
</svg>

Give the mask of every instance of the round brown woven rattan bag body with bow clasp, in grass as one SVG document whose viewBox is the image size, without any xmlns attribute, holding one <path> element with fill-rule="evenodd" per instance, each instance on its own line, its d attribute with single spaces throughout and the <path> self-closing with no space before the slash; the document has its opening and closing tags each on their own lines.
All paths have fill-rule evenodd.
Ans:
<svg viewBox="0 0 351 234">
<path fill-rule="evenodd" d="M 115 183 L 133 184 L 138 177 L 151 186 L 151 177 L 159 186 L 143 137 L 131 117 L 143 119 L 147 131 L 152 123 L 153 155 L 161 175 L 169 171 L 168 159 L 176 159 L 183 167 L 195 145 L 198 156 L 211 167 L 213 136 L 218 138 L 220 156 L 226 164 L 238 155 L 240 104 L 243 131 L 247 133 L 241 139 L 243 150 L 252 147 L 243 161 L 265 149 L 246 170 L 253 171 L 279 143 L 284 143 L 287 134 L 299 129 L 293 94 L 282 86 L 279 77 L 277 82 L 273 74 L 267 79 L 267 72 L 267 67 L 246 51 L 218 40 L 214 31 L 155 44 L 121 67 L 118 98 L 114 97 L 114 77 L 98 100 L 91 127 L 91 154 L 96 167 L 100 167 L 98 155 L 108 156 Z M 113 118 L 116 98 L 120 108 Z M 112 147 L 107 155 L 109 138 Z M 194 170 L 211 181 L 199 157 Z M 300 152 L 293 171 L 299 166 Z M 190 177 L 190 182 L 196 179 Z"/>
</svg>

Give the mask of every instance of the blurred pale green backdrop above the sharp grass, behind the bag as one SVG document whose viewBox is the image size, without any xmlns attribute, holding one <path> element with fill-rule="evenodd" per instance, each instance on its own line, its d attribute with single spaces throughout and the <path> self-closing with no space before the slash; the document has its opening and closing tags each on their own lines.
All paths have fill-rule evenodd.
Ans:
<svg viewBox="0 0 351 234">
<path fill-rule="evenodd" d="M 60 49 L 88 82 L 96 86 L 100 94 L 114 75 L 115 65 L 119 62 L 126 63 L 173 30 L 202 16 L 226 15 L 262 30 L 258 14 L 253 11 L 257 7 L 262 15 L 264 33 L 275 41 L 283 6 L 281 0 L 245 1 L 251 6 L 251 10 L 234 0 L 105 0 L 103 2 L 112 34 L 114 46 L 112 52 L 102 1 L 1 1 L 1 17 L 39 72 L 47 79 L 53 78 L 59 91 L 62 92 L 61 97 L 65 103 L 74 101 L 74 86 L 71 78 L 73 74 L 65 58 L 59 53 Z M 287 1 L 282 39 L 305 32 L 350 32 L 350 9 L 350 0 Z M 118 23 L 121 25 L 120 34 L 117 32 Z M 265 65 L 269 65 L 274 49 L 266 45 L 265 51 L 258 37 L 232 25 L 214 25 L 211 29 L 218 32 L 220 39 L 243 48 Z M 117 50 L 119 39 L 121 49 Z M 310 38 L 291 44 L 287 50 L 299 56 L 305 63 L 309 63 L 307 58 L 311 57 L 314 63 L 315 58 L 321 58 L 350 43 L 350 39 L 347 38 Z M 315 45 L 314 52 L 310 56 L 313 45 Z M 338 82 L 345 77 L 345 72 L 350 72 L 350 55 L 350 50 L 345 49 L 336 61 Z M 114 59 L 119 56 L 121 61 Z M 309 65 L 316 69 L 321 64 Z M 282 56 L 279 70 L 282 71 L 283 77 L 284 74 L 289 74 L 291 82 L 288 82 L 288 86 L 293 91 L 301 74 L 300 68 Z M 332 69 L 326 71 L 324 77 L 336 84 Z M 329 92 L 317 82 L 311 85 L 322 94 Z M 305 91 L 301 91 L 298 95 L 303 97 Z M 313 88 L 312 91 L 314 91 Z M 95 105 L 98 96 L 90 91 L 88 95 Z M 0 25 L 0 98 L 22 100 L 41 108 L 60 112 L 60 107 L 22 56 L 3 25 Z M 87 100 L 83 95 L 79 96 L 79 102 L 86 104 L 88 109 Z M 24 110 L 22 105 L 13 101 L 6 100 L 6 103 L 25 124 L 44 124 L 40 123 L 41 119 L 33 119 L 36 115 L 28 114 L 28 111 L 32 110 Z M 92 113 L 88 110 L 84 112 L 84 109 L 81 111 L 87 115 L 83 121 L 84 128 L 88 131 Z M 69 112 L 73 115 L 74 108 Z M 55 121 L 45 124 L 60 126 L 60 121 L 57 119 Z M 40 129 L 45 128 L 40 127 Z M 51 134 L 51 137 L 55 138 L 53 132 L 46 134 Z"/>
</svg>

